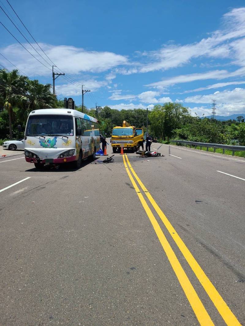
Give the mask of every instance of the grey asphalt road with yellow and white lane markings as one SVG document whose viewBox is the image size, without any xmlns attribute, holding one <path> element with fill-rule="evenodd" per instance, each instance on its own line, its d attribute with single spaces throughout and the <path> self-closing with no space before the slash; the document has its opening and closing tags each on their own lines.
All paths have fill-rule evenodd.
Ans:
<svg viewBox="0 0 245 326">
<path fill-rule="evenodd" d="M 0 325 L 245 325 L 245 159 L 153 148 L 0 158 Z"/>
</svg>

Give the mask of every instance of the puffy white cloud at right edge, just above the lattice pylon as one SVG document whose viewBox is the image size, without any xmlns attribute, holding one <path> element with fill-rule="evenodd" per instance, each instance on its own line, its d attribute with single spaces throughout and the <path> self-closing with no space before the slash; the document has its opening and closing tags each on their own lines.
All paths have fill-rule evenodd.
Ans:
<svg viewBox="0 0 245 326">
<path fill-rule="evenodd" d="M 235 88 L 232 91 L 224 90 L 222 92 L 215 92 L 209 95 L 195 95 L 185 98 L 186 103 L 212 103 L 213 99 L 217 103 L 243 104 L 245 98 L 244 88 Z"/>
</svg>

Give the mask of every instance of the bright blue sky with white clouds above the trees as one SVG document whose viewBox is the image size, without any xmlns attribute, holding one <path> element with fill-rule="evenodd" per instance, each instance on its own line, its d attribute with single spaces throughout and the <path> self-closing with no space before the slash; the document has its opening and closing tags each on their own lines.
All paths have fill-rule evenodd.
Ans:
<svg viewBox="0 0 245 326">
<path fill-rule="evenodd" d="M 84 96 L 89 108 L 97 102 L 119 110 L 151 109 L 158 103 L 177 101 L 201 116 L 210 114 L 212 99 L 216 99 L 217 114 L 245 112 L 244 1 L 9 3 L 66 78 L 91 90 Z M 24 30 L 7 1 L 1 0 L 0 6 Z M 28 33 L 24 30 L 48 63 L 1 9 L 0 21 L 52 69 Z M 2 25 L 0 52 L 30 78 L 52 83 L 52 71 Z M 0 63 L 13 68 L 1 56 Z M 73 97 L 81 104 L 80 87 L 66 79 L 57 78 L 56 91 L 58 98 Z"/>
</svg>

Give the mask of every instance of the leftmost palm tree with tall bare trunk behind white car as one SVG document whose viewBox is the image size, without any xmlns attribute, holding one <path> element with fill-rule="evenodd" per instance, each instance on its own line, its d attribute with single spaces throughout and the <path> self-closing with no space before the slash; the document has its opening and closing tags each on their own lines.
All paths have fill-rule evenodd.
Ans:
<svg viewBox="0 0 245 326">
<path fill-rule="evenodd" d="M 25 94 L 27 80 L 28 78 L 20 75 L 17 69 L 10 72 L 5 69 L 0 70 L 0 106 L 8 111 L 10 139 L 13 138 L 13 107 L 18 104 L 18 97 L 16 96 Z"/>
</svg>

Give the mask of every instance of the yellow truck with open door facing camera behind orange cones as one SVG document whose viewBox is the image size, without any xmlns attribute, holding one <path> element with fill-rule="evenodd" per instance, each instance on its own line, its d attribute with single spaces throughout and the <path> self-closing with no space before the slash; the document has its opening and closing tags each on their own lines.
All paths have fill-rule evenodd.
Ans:
<svg viewBox="0 0 245 326">
<path fill-rule="evenodd" d="M 111 133 L 111 146 L 113 153 L 123 149 L 134 151 L 137 149 L 138 142 L 143 141 L 143 129 L 130 126 L 126 121 L 123 121 L 122 127 L 114 127 Z"/>
</svg>

